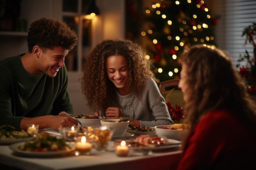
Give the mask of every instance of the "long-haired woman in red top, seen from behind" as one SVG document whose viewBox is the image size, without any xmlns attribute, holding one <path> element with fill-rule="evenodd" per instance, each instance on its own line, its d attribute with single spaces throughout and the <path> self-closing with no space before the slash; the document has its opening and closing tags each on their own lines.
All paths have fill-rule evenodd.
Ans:
<svg viewBox="0 0 256 170">
<path fill-rule="evenodd" d="M 227 55 L 197 45 L 182 54 L 183 157 L 177 170 L 256 170 L 256 104 Z"/>
</svg>

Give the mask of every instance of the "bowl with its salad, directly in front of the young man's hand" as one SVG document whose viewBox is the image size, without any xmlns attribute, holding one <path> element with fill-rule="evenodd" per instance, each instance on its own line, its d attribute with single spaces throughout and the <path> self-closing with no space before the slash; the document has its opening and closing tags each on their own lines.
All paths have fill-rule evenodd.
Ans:
<svg viewBox="0 0 256 170">
<path fill-rule="evenodd" d="M 95 115 L 77 115 L 75 116 L 82 126 L 101 126 L 101 120 L 106 119 L 104 116 Z"/>
</svg>

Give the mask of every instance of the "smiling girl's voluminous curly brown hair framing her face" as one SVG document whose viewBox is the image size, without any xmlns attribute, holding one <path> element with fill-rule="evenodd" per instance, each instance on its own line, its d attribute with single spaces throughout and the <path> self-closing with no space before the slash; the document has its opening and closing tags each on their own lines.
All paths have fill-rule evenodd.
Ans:
<svg viewBox="0 0 256 170">
<path fill-rule="evenodd" d="M 96 45 L 85 57 L 83 76 L 80 79 L 82 93 L 91 110 L 102 111 L 116 102 L 115 85 L 108 79 L 106 60 L 112 55 L 122 55 L 128 64 L 128 88 L 139 96 L 139 92 L 148 77 L 156 82 L 153 64 L 145 58 L 146 52 L 130 40 L 104 40 Z"/>
</svg>

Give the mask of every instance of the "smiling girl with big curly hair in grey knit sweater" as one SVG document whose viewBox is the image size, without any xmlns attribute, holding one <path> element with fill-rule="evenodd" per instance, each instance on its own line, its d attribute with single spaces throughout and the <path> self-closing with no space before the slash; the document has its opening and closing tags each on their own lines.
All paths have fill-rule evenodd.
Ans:
<svg viewBox="0 0 256 170">
<path fill-rule="evenodd" d="M 95 115 L 130 116 L 132 126 L 172 124 L 146 53 L 129 40 L 104 40 L 86 56 L 82 91 Z"/>
</svg>

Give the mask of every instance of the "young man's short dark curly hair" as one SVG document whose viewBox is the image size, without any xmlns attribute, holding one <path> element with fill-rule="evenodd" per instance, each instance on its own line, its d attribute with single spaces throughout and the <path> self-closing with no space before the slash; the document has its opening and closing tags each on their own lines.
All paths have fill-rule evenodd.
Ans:
<svg viewBox="0 0 256 170">
<path fill-rule="evenodd" d="M 29 53 L 36 45 L 43 51 L 56 46 L 71 51 L 77 42 L 76 32 L 71 30 L 65 22 L 48 18 L 40 18 L 32 22 L 27 35 Z"/>
</svg>

